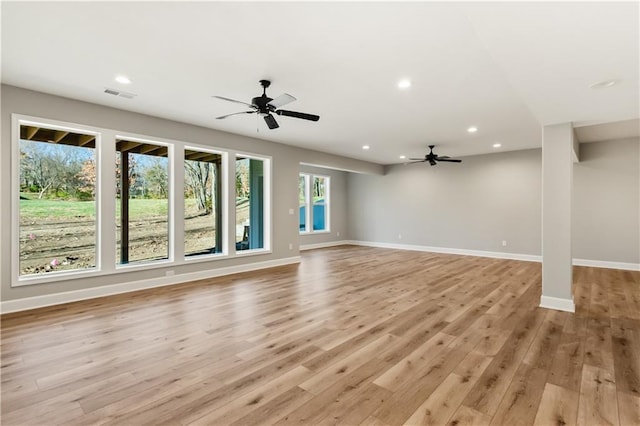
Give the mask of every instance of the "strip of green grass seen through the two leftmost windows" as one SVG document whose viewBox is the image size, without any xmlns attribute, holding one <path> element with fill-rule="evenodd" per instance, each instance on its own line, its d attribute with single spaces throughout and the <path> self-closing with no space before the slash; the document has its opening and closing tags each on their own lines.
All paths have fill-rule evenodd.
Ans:
<svg viewBox="0 0 640 426">
<path fill-rule="evenodd" d="M 58 200 L 20 200 L 20 217 L 48 218 L 48 219 L 79 219 L 95 218 L 95 203 L 93 201 L 58 201 Z M 168 203 L 166 199 L 129 201 L 129 216 L 131 218 L 146 218 L 167 216 Z M 116 200 L 116 217 L 120 217 L 120 200 Z"/>
</svg>

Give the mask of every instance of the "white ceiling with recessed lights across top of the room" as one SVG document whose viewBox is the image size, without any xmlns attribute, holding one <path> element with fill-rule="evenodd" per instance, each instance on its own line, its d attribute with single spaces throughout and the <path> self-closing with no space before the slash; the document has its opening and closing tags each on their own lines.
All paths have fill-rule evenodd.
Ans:
<svg viewBox="0 0 640 426">
<path fill-rule="evenodd" d="M 539 147 L 545 124 L 640 117 L 637 2 L 1 7 L 3 83 L 381 164 L 430 144 L 451 156 Z M 212 95 L 250 102 L 260 79 L 320 121 L 214 119 L 244 108 Z M 608 79 L 619 84 L 589 88 Z"/>
</svg>

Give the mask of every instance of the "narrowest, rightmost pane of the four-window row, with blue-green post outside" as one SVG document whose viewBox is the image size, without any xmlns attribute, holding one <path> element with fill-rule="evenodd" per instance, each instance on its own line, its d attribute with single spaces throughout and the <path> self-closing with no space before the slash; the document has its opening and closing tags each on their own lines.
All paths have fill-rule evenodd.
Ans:
<svg viewBox="0 0 640 426">
<path fill-rule="evenodd" d="M 236 250 L 264 248 L 264 161 L 236 158 Z"/>
</svg>

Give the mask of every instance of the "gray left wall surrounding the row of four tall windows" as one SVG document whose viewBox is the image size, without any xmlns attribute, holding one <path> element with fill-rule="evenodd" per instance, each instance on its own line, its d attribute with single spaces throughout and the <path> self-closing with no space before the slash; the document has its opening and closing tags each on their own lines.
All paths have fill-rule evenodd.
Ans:
<svg viewBox="0 0 640 426">
<path fill-rule="evenodd" d="M 298 174 L 301 162 L 323 164 L 365 173 L 383 173 L 383 167 L 377 164 L 233 135 L 13 86 L 2 85 L 1 95 L 0 199 L 2 210 L 0 211 L 0 221 L 7 225 L 0 227 L 2 228 L 0 231 L 0 261 L 2 263 L 0 300 L 2 301 L 164 278 L 166 269 L 172 269 L 174 274 L 179 276 L 216 268 L 295 257 L 299 254 L 296 244 L 299 238 L 298 219 L 296 215 L 289 214 L 289 209 L 295 211 L 298 206 Z M 130 100 L 123 99 L 122 102 L 123 105 L 127 105 L 126 102 L 130 102 Z M 14 201 L 11 200 L 11 115 L 14 113 L 270 156 L 273 170 L 272 252 L 178 266 L 168 265 L 164 268 L 122 272 L 100 277 L 11 287 L 12 253 L 10 242 L 12 230 L 8 224 L 11 224 L 11 203 Z M 293 250 L 289 249 L 290 243 L 294 245 Z"/>
</svg>

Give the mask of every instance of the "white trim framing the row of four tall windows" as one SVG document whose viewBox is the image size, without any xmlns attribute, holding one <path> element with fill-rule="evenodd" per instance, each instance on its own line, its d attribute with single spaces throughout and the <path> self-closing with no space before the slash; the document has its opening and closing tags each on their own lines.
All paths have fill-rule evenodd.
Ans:
<svg viewBox="0 0 640 426">
<path fill-rule="evenodd" d="M 58 281 L 70 281 L 82 278 L 115 275 L 134 271 L 150 269 L 166 269 L 185 264 L 211 262 L 247 256 L 256 256 L 272 253 L 272 164 L 273 157 L 262 154 L 235 151 L 232 148 L 212 147 L 201 143 L 188 142 L 186 140 L 173 140 L 157 138 L 147 135 L 123 132 L 115 129 L 99 126 L 87 126 L 34 117 L 23 114 L 11 114 L 11 287 L 28 285 L 40 285 Z M 51 129 L 60 129 L 96 136 L 95 161 L 96 174 L 96 266 L 91 269 L 50 272 L 47 274 L 33 274 L 20 276 L 20 187 L 16 182 L 20 180 L 20 125 L 36 125 Z M 109 182 L 115 176 L 115 141 L 126 139 L 140 141 L 168 147 L 169 157 L 169 259 L 154 261 L 140 261 L 126 265 L 117 265 L 116 238 L 115 238 L 115 186 L 109 189 Z M 223 211 L 223 253 L 202 255 L 185 258 L 184 256 L 184 192 L 176 190 L 179 185 L 184 187 L 184 149 L 190 148 L 198 151 L 222 154 L 222 211 Z M 181 155 L 182 154 L 182 155 Z M 235 161 L 231 167 L 231 159 L 237 156 L 262 160 L 264 173 L 264 248 L 235 251 L 235 233 L 230 232 L 230 225 L 235 224 Z M 114 161 L 109 162 L 110 159 Z M 180 167 L 180 165 L 182 167 Z M 229 180 L 233 174 L 234 180 Z M 181 179 L 178 179 L 181 177 Z M 108 180 L 107 180 L 108 179 Z M 233 192 L 231 185 L 233 184 Z M 234 202 L 231 202 L 233 194 Z M 182 235 L 180 235 L 182 232 Z M 181 244 L 181 245 L 179 245 Z"/>
</svg>

